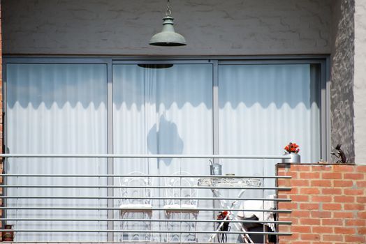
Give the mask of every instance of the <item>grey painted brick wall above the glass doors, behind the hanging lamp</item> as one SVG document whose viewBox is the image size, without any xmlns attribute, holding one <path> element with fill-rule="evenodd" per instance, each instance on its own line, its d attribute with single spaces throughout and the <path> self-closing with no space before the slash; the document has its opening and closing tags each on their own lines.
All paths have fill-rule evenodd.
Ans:
<svg viewBox="0 0 366 244">
<path fill-rule="evenodd" d="M 173 0 L 186 47 L 151 47 L 164 0 L 2 0 L 6 54 L 329 54 L 332 0 Z"/>
</svg>

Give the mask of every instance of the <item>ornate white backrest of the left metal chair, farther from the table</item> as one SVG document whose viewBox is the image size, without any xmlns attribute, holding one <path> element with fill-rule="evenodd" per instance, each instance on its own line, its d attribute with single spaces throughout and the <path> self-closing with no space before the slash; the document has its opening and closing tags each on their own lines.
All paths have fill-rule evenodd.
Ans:
<svg viewBox="0 0 366 244">
<path fill-rule="evenodd" d="M 129 176 L 119 178 L 119 185 L 122 204 L 152 204 L 149 199 L 152 196 L 152 180 L 147 174 L 133 171 Z"/>
</svg>

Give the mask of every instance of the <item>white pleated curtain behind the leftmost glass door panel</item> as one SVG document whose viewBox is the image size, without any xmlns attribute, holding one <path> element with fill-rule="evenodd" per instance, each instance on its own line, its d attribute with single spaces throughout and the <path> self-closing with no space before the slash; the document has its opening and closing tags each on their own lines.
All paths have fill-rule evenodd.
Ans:
<svg viewBox="0 0 366 244">
<path fill-rule="evenodd" d="M 107 153 L 105 65 L 8 64 L 8 153 Z M 10 159 L 8 174 L 106 174 L 105 159 Z M 8 185 L 106 185 L 105 178 L 11 177 Z M 8 196 L 105 196 L 98 188 L 10 188 Z M 105 199 L 9 199 L 9 207 L 106 207 Z M 106 218 L 106 211 L 14 210 L 8 218 Z M 15 229 L 106 229 L 106 222 L 13 221 Z M 20 232 L 15 241 L 106 241 L 98 233 Z"/>
</svg>

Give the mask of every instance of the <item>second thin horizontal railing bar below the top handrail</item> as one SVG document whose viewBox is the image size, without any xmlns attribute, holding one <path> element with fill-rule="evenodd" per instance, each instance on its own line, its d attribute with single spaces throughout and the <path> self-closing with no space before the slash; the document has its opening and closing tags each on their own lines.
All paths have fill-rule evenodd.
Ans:
<svg viewBox="0 0 366 244">
<path fill-rule="evenodd" d="M 291 190 L 291 188 L 223 187 L 223 186 L 120 186 L 120 185 L 1 185 L 1 188 L 154 188 L 154 189 L 238 189 L 238 190 Z"/>
</svg>

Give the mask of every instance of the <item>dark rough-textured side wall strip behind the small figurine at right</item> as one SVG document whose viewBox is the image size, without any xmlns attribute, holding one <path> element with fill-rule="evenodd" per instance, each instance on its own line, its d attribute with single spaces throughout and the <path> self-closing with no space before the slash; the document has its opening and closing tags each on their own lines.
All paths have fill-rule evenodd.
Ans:
<svg viewBox="0 0 366 244">
<path fill-rule="evenodd" d="M 354 0 L 333 6 L 332 68 L 330 83 L 331 147 L 338 143 L 349 162 L 355 162 L 353 125 Z M 335 160 L 335 158 L 333 158 Z"/>
</svg>

